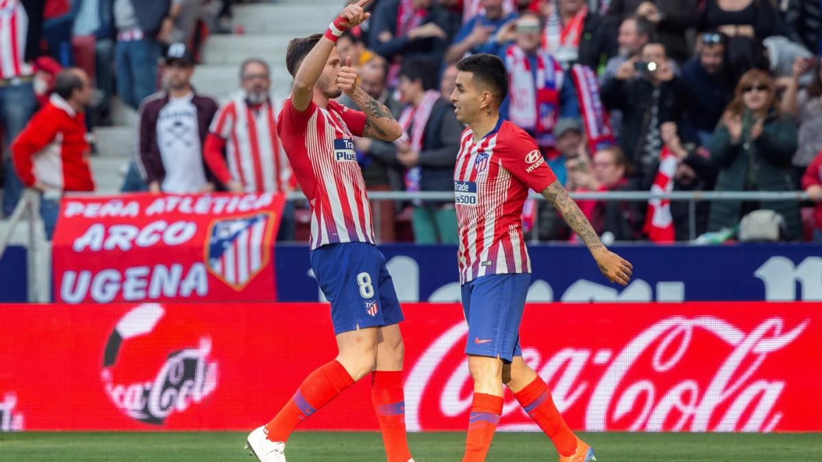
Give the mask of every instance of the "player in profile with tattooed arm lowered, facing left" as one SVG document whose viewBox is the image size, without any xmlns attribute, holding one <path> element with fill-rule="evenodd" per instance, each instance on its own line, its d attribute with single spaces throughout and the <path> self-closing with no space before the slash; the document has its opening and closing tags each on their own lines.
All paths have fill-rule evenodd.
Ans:
<svg viewBox="0 0 822 462">
<path fill-rule="evenodd" d="M 580 236 L 608 280 L 626 285 L 631 265 L 599 241 L 580 207 L 556 181 L 537 143 L 499 115 L 508 72 L 492 54 L 457 63 L 451 94 L 459 122 L 468 125 L 454 169 L 459 225 L 459 280 L 469 334 L 465 353 L 473 402 L 464 462 L 482 462 L 502 413 L 503 384 L 551 438 L 560 462 L 596 460 L 553 403 L 547 385 L 522 358 L 520 321 L 531 262 L 522 235 L 529 189 L 539 191 Z"/>
</svg>

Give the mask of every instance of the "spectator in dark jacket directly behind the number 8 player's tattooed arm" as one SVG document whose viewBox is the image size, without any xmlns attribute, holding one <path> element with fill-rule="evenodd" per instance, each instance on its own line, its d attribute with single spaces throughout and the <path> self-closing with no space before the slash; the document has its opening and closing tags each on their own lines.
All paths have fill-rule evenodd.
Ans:
<svg viewBox="0 0 822 462">
<path fill-rule="evenodd" d="M 374 60 L 372 60 L 374 61 Z M 384 104 L 394 118 L 399 119 L 404 104 L 394 99 L 388 91 L 385 63 L 372 66 L 372 61 L 359 73 L 359 87 L 369 96 Z M 359 110 L 348 95 L 342 95 L 339 103 L 350 109 Z M 354 150 L 363 170 L 363 181 L 368 191 L 404 191 L 404 167 L 396 159 L 394 143 L 380 141 L 376 138 L 354 136 Z M 401 210 L 399 202 L 376 201 L 372 210 L 379 209 L 378 237 L 382 243 L 393 243 L 396 238 L 395 216 Z M 375 218 L 376 219 L 376 218 Z"/>
</svg>

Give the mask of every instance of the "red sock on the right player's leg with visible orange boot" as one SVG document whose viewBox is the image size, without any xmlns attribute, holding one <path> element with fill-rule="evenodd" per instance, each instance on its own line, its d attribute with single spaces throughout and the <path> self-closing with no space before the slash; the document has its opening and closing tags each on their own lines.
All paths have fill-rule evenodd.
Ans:
<svg viewBox="0 0 822 462">
<path fill-rule="evenodd" d="M 576 437 L 570 431 L 565 419 L 554 405 L 551 391 L 543 379 L 533 379 L 525 388 L 514 394 L 525 412 L 543 429 L 556 446 L 560 455 L 570 456 L 576 452 Z"/>
</svg>

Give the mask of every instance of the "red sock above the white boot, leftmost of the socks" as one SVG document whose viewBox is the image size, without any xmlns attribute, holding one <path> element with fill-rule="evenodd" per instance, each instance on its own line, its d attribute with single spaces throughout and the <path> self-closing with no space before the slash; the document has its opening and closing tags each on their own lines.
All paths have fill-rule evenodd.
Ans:
<svg viewBox="0 0 822 462">
<path fill-rule="evenodd" d="M 302 381 L 297 393 L 266 425 L 269 441 L 288 441 L 300 422 L 317 409 L 329 404 L 343 390 L 354 384 L 349 372 L 336 360 L 316 369 Z"/>
</svg>

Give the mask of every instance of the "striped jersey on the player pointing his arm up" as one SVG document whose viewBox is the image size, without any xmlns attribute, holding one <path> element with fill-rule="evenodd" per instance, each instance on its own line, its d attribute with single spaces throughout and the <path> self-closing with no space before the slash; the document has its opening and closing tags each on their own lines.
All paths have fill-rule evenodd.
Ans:
<svg viewBox="0 0 822 462">
<path fill-rule="evenodd" d="M 329 101 L 301 113 L 291 98 L 279 113 L 277 134 L 311 206 L 311 248 L 333 243 L 375 243 L 371 206 L 353 136 L 363 136 L 366 115 Z"/>
</svg>

